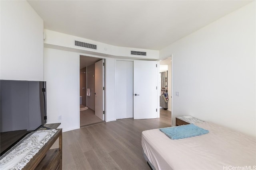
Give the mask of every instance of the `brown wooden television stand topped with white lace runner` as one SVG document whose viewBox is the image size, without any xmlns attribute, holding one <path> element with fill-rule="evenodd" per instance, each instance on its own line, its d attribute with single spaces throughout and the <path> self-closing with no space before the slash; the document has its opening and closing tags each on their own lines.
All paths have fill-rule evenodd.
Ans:
<svg viewBox="0 0 256 170">
<path fill-rule="evenodd" d="M 24 137 L 13 150 L 1 157 L 3 166 L 19 169 L 25 165 L 22 170 L 62 170 L 62 129 L 56 129 L 59 125 L 46 124 Z M 9 154 L 16 156 L 15 159 L 10 159 Z"/>
</svg>

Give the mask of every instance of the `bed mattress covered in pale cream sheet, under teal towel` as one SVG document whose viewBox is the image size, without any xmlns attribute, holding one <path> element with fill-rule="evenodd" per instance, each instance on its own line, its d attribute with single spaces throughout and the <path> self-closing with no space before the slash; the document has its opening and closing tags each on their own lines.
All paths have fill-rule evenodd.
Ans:
<svg viewBox="0 0 256 170">
<path fill-rule="evenodd" d="M 256 170 L 254 137 L 213 123 L 195 124 L 209 133 L 172 140 L 159 129 L 142 132 L 144 153 L 159 170 Z"/>
</svg>

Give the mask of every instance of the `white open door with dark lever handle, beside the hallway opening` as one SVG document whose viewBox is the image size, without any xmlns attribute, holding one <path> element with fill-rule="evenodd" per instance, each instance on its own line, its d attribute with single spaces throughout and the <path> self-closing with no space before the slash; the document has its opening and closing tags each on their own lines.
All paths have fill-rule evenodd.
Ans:
<svg viewBox="0 0 256 170">
<path fill-rule="evenodd" d="M 134 61 L 134 119 L 157 116 L 156 61 Z"/>
</svg>

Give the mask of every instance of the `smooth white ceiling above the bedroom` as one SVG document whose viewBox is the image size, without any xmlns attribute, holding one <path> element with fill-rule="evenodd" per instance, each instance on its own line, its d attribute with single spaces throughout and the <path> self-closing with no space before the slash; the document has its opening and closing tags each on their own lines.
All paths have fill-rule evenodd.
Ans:
<svg viewBox="0 0 256 170">
<path fill-rule="evenodd" d="M 160 50 L 247 0 L 32 0 L 44 28 L 110 45 Z"/>
</svg>

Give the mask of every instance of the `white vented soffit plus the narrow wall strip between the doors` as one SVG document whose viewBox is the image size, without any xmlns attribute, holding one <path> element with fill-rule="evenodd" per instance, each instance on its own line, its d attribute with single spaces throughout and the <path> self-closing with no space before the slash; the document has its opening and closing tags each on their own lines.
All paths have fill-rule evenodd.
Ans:
<svg viewBox="0 0 256 170">
<path fill-rule="evenodd" d="M 89 39 L 84 39 L 81 37 L 76 37 L 72 35 L 67 35 L 64 33 L 59 33 L 56 31 L 51 31 L 44 29 L 46 40 L 44 41 L 44 46 L 46 48 L 59 49 L 63 51 L 72 51 L 80 53 L 81 55 L 87 55 L 90 57 L 100 57 L 106 59 L 106 121 L 116 120 L 116 104 L 115 104 L 115 61 L 116 59 L 158 59 L 159 51 L 148 50 L 148 49 L 134 49 L 127 47 L 117 47 L 113 45 L 108 45 L 100 43 L 97 41 L 92 41 Z M 74 41 L 82 41 L 87 43 L 92 43 L 97 45 L 97 50 L 87 49 L 84 47 L 78 47 L 74 45 Z M 146 51 L 147 56 L 135 56 L 130 55 L 130 51 Z M 110 58 L 111 57 L 111 58 Z M 159 114 L 158 114 L 159 115 Z M 159 116 L 158 116 L 159 117 Z"/>
</svg>

